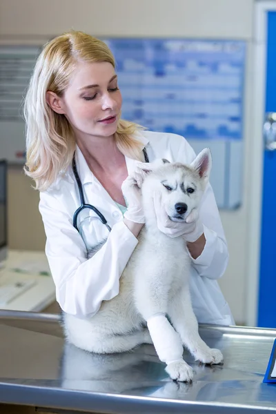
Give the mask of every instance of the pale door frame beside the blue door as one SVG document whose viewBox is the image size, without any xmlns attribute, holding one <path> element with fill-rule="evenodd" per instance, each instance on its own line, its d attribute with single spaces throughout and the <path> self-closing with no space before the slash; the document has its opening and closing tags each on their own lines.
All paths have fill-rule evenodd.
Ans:
<svg viewBox="0 0 276 414">
<path fill-rule="evenodd" d="M 246 268 L 246 325 L 256 326 L 259 306 L 262 194 L 264 175 L 263 125 L 266 102 L 267 12 L 276 11 L 276 1 L 255 4 L 253 25 L 253 103 L 250 122 L 250 168 L 248 195 L 248 246 Z M 262 137 L 262 139 L 260 139 Z"/>
</svg>

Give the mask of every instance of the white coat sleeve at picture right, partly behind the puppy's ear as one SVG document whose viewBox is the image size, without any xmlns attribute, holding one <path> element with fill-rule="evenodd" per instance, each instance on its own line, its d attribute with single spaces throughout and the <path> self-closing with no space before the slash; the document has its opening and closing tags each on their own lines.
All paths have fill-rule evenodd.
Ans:
<svg viewBox="0 0 276 414">
<path fill-rule="evenodd" d="M 183 139 L 179 148 L 177 161 L 191 163 L 195 159 L 195 151 Z M 213 189 L 208 184 L 202 198 L 199 217 L 204 225 L 206 244 L 204 250 L 197 259 L 192 259 L 192 265 L 199 274 L 210 279 L 219 279 L 228 265 L 228 246 L 221 224 L 219 210 L 215 201 Z"/>
</svg>

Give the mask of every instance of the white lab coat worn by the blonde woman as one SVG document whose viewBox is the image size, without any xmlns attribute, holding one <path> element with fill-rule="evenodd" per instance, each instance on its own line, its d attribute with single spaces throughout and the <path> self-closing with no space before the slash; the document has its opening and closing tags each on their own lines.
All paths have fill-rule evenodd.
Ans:
<svg viewBox="0 0 276 414">
<path fill-rule="evenodd" d="M 166 158 L 190 163 L 195 159 L 195 152 L 179 135 L 149 131 L 142 135 L 140 139 L 150 161 Z M 48 190 L 40 193 L 39 210 L 46 231 L 46 255 L 56 285 L 57 302 L 66 313 L 84 317 L 97 313 L 103 300 L 112 299 L 119 293 L 119 278 L 138 241 L 124 224 L 115 201 L 88 168 L 78 147 L 76 164 L 86 203 L 96 206 L 112 228 L 109 233 L 99 220 L 91 218 L 94 213 L 85 210 L 84 216 L 91 216 L 83 227 L 86 228 L 86 244 L 89 248 L 108 237 L 106 243 L 87 259 L 86 245 L 72 226 L 72 217 L 80 201 L 71 166 L 60 173 Z M 135 161 L 126 157 L 126 165 L 130 173 Z M 228 264 L 228 249 L 211 186 L 204 194 L 200 216 L 206 246 L 197 259 L 192 259 L 190 292 L 193 308 L 201 323 L 235 324 L 217 284 Z"/>
</svg>

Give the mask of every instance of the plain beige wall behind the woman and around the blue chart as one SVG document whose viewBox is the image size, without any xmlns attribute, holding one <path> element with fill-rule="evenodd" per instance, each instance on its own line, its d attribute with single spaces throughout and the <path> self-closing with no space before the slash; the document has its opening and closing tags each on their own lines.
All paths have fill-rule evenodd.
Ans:
<svg viewBox="0 0 276 414">
<path fill-rule="evenodd" d="M 248 179 L 250 159 L 253 0 L 1 0 L 0 41 L 36 43 L 70 28 L 95 36 L 202 37 L 248 41 L 245 101 L 244 204 L 221 212 L 230 263 L 219 281 L 237 322 L 245 320 Z M 12 248 L 41 249 L 45 242 L 38 194 L 19 170 L 9 172 Z"/>
</svg>

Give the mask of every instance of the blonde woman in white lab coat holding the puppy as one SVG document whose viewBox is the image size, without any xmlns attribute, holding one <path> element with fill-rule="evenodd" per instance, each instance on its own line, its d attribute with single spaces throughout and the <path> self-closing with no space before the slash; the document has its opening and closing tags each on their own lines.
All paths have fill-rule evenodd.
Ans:
<svg viewBox="0 0 276 414">
<path fill-rule="evenodd" d="M 121 273 L 137 246 L 144 225 L 139 189 L 132 188 L 137 204 L 128 207 L 121 191 L 135 160 L 195 159 L 183 137 L 148 132 L 121 119 L 121 103 L 114 57 L 105 43 L 69 32 L 43 48 L 26 95 L 26 174 L 40 191 L 57 302 L 79 317 L 95 315 L 103 300 L 119 293 Z M 193 224 L 168 217 L 160 223 L 161 217 L 164 233 L 181 234 L 188 243 L 198 321 L 234 324 L 217 284 L 228 249 L 210 185 Z M 91 249 L 95 255 L 88 259 Z"/>
</svg>

